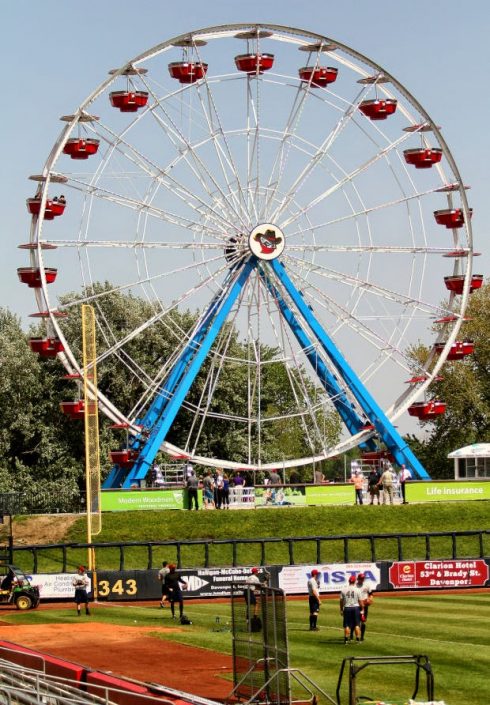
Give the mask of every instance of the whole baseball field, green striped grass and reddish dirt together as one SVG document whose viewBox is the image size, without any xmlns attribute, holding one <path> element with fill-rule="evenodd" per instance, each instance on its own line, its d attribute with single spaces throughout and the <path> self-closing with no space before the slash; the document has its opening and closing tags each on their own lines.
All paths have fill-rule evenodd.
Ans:
<svg viewBox="0 0 490 705">
<path fill-rule="evenodd" d="M 94 668 L 224 699 L 232 688 L 230 605 L 185 605 L 192 625 L 171 619 L 158 604 L 95 604 L 77 617 L 72 604 L 19 613 L 2 609 L 3 638 Z M 336 597 L 325 598 L 319 632 L 308 631 L 306 599 L 287 604 L 290 665 L 335 697 L 347 656 L 427 655 L 435 696 L 447 705 L 490 703 L 490 593 L 376 595 L 366 639 L 344 646 Z M 359 677 L 358 693 L 380 700 L 412 695 L 411 666 L 377 666 Z M 422 679 L 419 697 L 424 699 Z M 297 695 L 301 697 L 301 692 Z M 345 702 L 346 691 L 343 690 Z"/>
</svg>

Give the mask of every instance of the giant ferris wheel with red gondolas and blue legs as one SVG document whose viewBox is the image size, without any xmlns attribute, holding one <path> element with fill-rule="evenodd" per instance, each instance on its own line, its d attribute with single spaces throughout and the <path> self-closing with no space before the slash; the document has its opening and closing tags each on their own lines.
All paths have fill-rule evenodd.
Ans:
<svg viewBox="0 0 490 705">
<path fill-rule="evenodd" d="M 210 27 L 111 70 L 61 119 L 30 177 L 18 272 L 46 324 L 34 351 L 83 377 L 67 331 L 88 303 L 99 378 L 127 380 L 126 395 L 98 392 L 128 430 L 106 486 L 140 482 L 162 448 L 265 470 L 377 439 L 428 477 L 395 423 L 444 411 L 424 394 L 472 352 L 458 334 L 483 277 L 468 187 L 395 77 L 312 32 Z M 115 297 L 143 301 L 144 319 L 118 325 Z M 145 357 L 159 334 L 166 353 Z"/>
</svg>

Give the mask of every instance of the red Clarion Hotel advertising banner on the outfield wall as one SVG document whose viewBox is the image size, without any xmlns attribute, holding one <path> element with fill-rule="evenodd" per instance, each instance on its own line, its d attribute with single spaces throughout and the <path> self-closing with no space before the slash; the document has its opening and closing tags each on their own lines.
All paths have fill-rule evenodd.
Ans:
<svg viewBox="0 0 490 705">
<path fill-rule="evenodd" d="M 389 581 L 395 590 L 417 588 L 484 587 L 488 580 L 486 561 L 404 561 L 393 563 Z"/>
</svg>

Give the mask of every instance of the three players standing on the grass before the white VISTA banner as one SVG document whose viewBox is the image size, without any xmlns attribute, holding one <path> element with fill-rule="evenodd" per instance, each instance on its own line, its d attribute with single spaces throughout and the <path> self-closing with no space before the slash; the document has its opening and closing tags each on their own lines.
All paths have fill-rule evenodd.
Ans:
<svg viewBox="0 0 490 705">
<path fill-rule="evenodd" d="M 356 642 L 364 641 L 369 605 L 373 602 L 373 589 L 365 580 L 364 573 L 351 575 L 348 585 L 340 591 L 340 615 L 344 630 L 344 644 L 355 637 Z M 310 631 L 317 632 L 320 612 L 320 573 L 314 568 L 308 579 L 308 605 L 310 610 Z"/>
</svg>

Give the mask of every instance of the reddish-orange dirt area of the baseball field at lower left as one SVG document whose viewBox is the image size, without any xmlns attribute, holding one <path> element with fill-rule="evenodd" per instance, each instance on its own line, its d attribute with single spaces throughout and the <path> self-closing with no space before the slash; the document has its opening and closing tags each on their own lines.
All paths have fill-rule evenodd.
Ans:
<svg viewBox="0 0 490 705">
<path fill-rule="evenodd" d="M 83 617 L 82 617 L 83 619 Z M 223 675 L 233 672 L 230 656 L 156 638 L 179 627 L 127 627 L 100 622 L 76 625 L 1 624 L 2 637 L 53 656 L 159 683 L 213 700 L 224 700 L 233 687 Z"/>
</svg>

